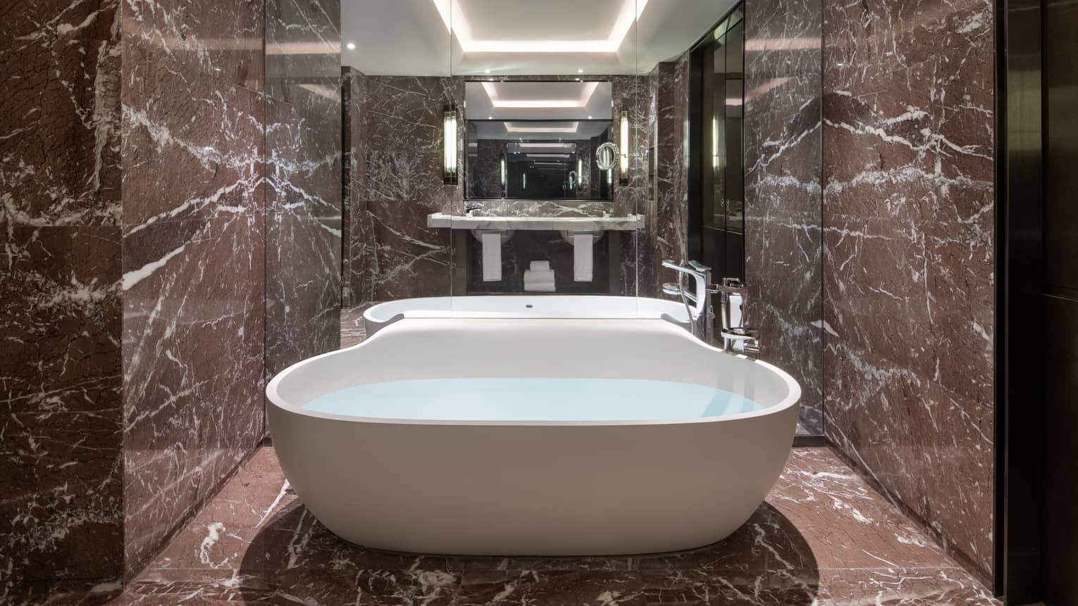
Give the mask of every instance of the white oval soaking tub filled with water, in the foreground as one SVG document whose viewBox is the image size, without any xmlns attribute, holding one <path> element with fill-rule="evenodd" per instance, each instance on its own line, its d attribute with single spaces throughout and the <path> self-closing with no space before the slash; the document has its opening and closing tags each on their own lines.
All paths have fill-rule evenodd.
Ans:
<svg viewBox="0 0 1078 606">
<path fill-rule="evenodd" d="M 800 394 L 662 320 L 404 320 L 266 386 L 281 468 L 329 530 L 506 555 L 725 537 L 778 479 Z"/>
</svg>

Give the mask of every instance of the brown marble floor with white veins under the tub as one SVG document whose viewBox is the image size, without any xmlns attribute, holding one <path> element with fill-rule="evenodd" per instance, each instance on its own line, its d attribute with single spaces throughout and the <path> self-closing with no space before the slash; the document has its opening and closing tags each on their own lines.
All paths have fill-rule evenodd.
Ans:
<svg viewBox="0 0 1078 606">
<path fill-rule="evenodd" d="M 314 519 L 265 447 L 108 603 L 998 604 L 826 447 L 793 449 L 766 503 L 728 539 L 620 558 L 363 549 Z"/>
</svg>

